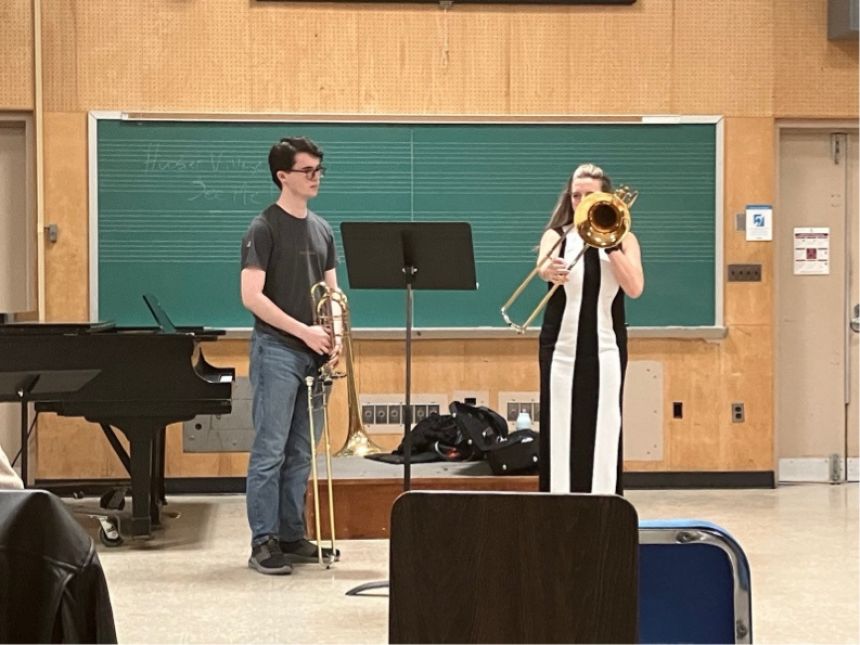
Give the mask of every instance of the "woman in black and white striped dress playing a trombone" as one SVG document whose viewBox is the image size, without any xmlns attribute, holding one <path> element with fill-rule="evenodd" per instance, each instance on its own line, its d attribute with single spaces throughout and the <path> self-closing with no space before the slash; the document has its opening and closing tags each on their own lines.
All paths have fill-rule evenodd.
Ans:
<svg viewBox="0 0 860 645">
<path fill-rule="evenodd" d="M 540 277 L 561 285 L 540 332 L 543 491 L 623 492 L 624 296 L 638 298 L 645 285 L 639 242 L 627 233 L 615 246 L 589 246 L 568 269 L 585 244 L 572 228 L 576 207 L 592 193 L 611 191 L 601 168 L 579 166 L 541 238 Z"/>
</svg>

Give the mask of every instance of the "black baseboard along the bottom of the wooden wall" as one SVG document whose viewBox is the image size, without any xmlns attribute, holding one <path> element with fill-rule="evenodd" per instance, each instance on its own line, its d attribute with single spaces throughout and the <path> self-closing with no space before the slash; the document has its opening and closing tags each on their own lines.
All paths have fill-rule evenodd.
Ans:
<svg viewBox="0 0 860 645">
<path fill-rule="evenodd" d="M 128 485 L 127 479 L 38 479 L 34 487 L 61 497 L 91 497 L 101 495 L 109 488 Z M 164 487 L 168 495 L 244 493 L 245 478 L 169 477 L 165 479 Z M 774 473 L 770 470 L 624 473 L 625 490 L 774 487 Z"/>
</svg>

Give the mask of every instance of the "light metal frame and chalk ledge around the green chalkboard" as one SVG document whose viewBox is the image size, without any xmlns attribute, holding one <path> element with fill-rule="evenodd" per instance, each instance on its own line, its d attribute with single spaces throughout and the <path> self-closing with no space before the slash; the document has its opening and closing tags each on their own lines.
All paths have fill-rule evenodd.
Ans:
<svg viewBox="0 0 860 645">
<path fill-rule="evenodd" d="M 404 115 L 269 115 L 269 114 L 176 114 L 93 111 L 88 118 L 89 148 L 89 280 L 90 318 L 99 319 L 99 275 L 98 275 L 98 126 L 103 120 L 114 121 L 169 121 L 169 122 L 224 122 L 224 123 L 307 123 L 325 124 L 397 124 L 397 125 L 643 125 L 650 124 L 710 124 L 714 126 L 714 324 L 693 326 L 634 326 L 629 328 L 631 337 L 659 338 L 723 338 L 726 335 L 723 316 L 723 117 L 718 115 L 605 115 L 582 118 L 567 116 L 404 116 Z M 515 285 L 512 285 L 512 288 Z M 356 328 L 358 338 L 400 338 L 404 327 Z M 247 337 L 250 328 L 228 328 L 228 335 Z M 527 336 L 534 336 L 537 327 L 530 328 Z M 416 327 L 415 335 L 425 338 L 495 338 L 509 337 L 512 332 L 503 326 L 480 327 Z"/>
</svg>

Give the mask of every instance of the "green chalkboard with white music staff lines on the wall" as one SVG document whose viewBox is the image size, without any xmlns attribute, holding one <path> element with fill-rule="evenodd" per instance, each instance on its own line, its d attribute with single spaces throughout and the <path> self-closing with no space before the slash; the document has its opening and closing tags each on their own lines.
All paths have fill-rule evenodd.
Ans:
<svg viewBox="0 0 860 645">
<path fill-rule="evenodd" d="M 151 324 L 153 293 L 181 325 L 252 324 L 239 298 L 240 241 L 276 197 L 267 155 L 282 136 L 325 151 L 311 208 L 341 222 L 467 221 L 479 289 L 416 292 L 416 327 L 503 327 L 499 307 L 535 261 L 566 178 L 582 161 L 640 193 L 633 230 L 645 294 L 631 326 L 716 320 L 717 127 L 673 124 L 271 123 L 98 119 L 94 276 L 97 315 Z M 339 268 L 349 289 L 346 267 Z M 541 285 L 522 300 L 537 301 Z M 349 291 L 356 328 L 403 327 L 397 291 Z M 516 313 L 516 311 L 515 311 Z"/>
</svg>

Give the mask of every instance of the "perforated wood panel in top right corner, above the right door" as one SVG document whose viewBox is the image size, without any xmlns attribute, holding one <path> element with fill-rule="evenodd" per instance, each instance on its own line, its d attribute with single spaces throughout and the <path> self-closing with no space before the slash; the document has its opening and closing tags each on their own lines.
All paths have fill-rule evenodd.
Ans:
<svg viewBox="0 0 860 645">
<path fill-rule="evenodd" d="M 827 5 L 773 0 L 776 118 L 857 118 L 858 41 L 827 40 Z"/>
</svg>

